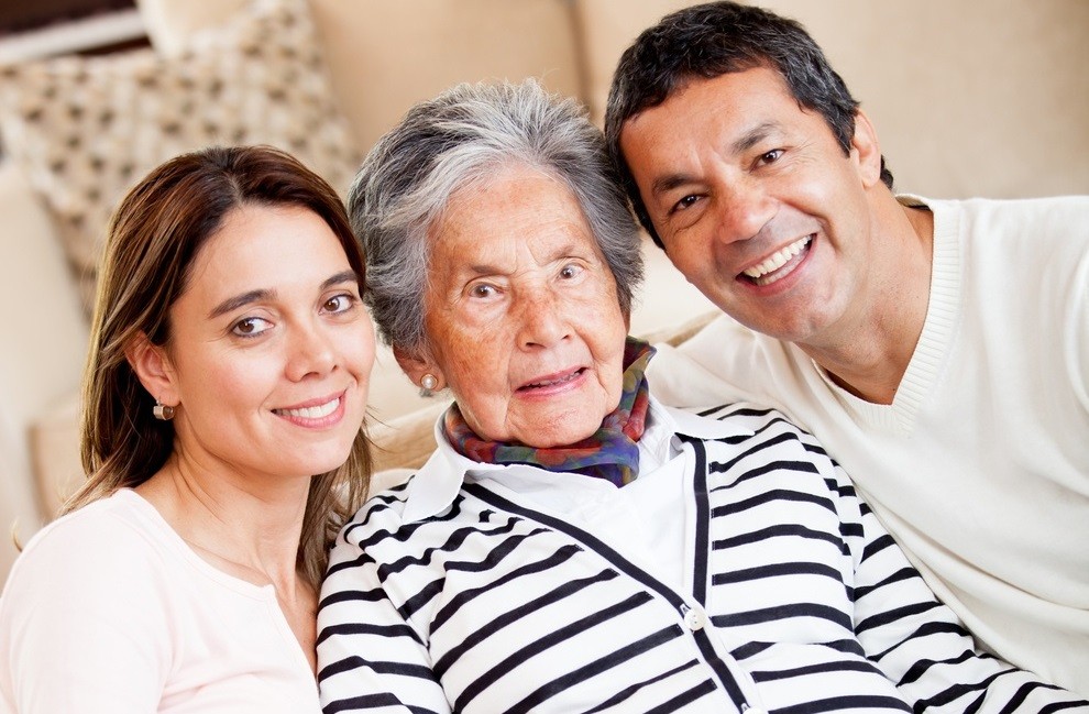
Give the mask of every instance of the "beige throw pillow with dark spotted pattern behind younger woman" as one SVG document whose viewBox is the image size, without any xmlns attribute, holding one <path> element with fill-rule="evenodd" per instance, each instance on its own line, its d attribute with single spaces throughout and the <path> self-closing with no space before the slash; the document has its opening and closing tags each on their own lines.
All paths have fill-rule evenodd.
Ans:
<svg viewBox="0 0 1089 714">
<path fill-rule="evenodd" d="M 110 213 L 163 161 L 272 144 L 342 194 L 359 167 L 306 0 L 255 0 L 180 56 L 150 50 L 0 67 L 0 136 L 54 216 L 86 305 Z"/>
</svg>

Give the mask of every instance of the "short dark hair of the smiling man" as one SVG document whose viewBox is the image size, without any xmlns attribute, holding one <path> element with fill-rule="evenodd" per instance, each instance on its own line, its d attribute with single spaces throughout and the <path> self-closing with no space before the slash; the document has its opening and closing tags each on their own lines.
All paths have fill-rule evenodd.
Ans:
<svg viewBox="0 0 1089 714">
<path fill-rule="evenodd" d="M 850 152 L 858 101 L 813 37 L 793 20 L 735 2 L 693 6 L 662 18 L 620 56 L 605 110 L 605 140 L 639 222 L 659 245 L 620 152 L 624 122 L 662 103 L 690 79 L 756 67 L 779 72 L 799 106 L 820 112 L 844 152 Z M 881 180 L 892 188 L 883 156 Z"/>
</svg>

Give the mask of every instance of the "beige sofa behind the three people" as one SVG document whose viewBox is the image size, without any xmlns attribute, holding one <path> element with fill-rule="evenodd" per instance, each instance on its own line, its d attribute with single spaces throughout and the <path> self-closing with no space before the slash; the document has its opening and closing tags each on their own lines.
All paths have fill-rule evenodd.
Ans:
<svg viewBox="0 0 1089 714">
<path fill-rule="evenodd" d="M 237 22 L 251 10 L 250 2 L 141 0 L 154 46 L 154 56 L 141 62 L 173 69 L 170 63 L 193 64 L 201 53 L 218 52 L 209 34 Z M 343 169 L 414 101 L 461 80 L 539 76 L 553 90 L 580 98 L 600 120 L 620 51 L 639 30 L 683 4 L 309 0 L 305 8 L 341 114 L 319 123 L 329 128 L 343 121 L 341 139 L 352 146 L 340 157 Z M 1089 80 L 1084 72 L 1089 3 L 1084 0 L 765 4 L 802 20 L 825 46 L 875 121 L 898 188 L 942 197 L 1089 193 Z M 265 44 L 258 37 L 254 46 L 260 52 Z M 270 62 L 290 63 L 293 56 Z M 242 72 L 224 66 L 228 73 Z M 81 87 L 75 86 L 77 91 Z M 240 87 L 248 91 L 246 81 Z M 297 107 L 300 117 L 305 109 Z M 10 110 L 0 105 L 0 117 Z M 298 123 L 307 124 L 296 130 L 305 134 L 318 129 L 312 119 Z M 136 129 L 133 144 L 144 141 Z M 47 145 L 54 134 L 55 128 L 37 136 L 45 144 L 42 151 L 55 150 Z M 48 188 L 56 177 L 43 179 L 16 161 L 13 150 L 32 145 L 32 136 L 3 139 L 13 157 L 0 162 L 0 530 L 7 534 L 16 524 L 25 539 L 81 479 L 76 424 L 87 285 L 86 276 L 82 284 L 73 277 L 72 266 L 92 260 L 94 252 L 80 255 L 68 240 L 62 220 L 68 205 L 59 200 L 65 191 Z M 16 147 L 24 139 L 28 143 Z M 298 139 L 298 145 L 307 139 Z M 64 155 L 81 151 L 72 145 L 56 151 L 74 158 Z M 110 157 L 130 149 L 114 144 Z M 322 161 L 337 161 L 329 154 L 327 146 Z M 336 175 L 344 180 L 343 171 Z M 661 252 L 648 244 L 646 256 L 648 281 L 632 331 L 683 339 L 712 307 Z M 439 406 L 418 397 L 388 352 L 380 352 L 371 410 L 384 466 L 413 464 L 426 454 Z M 14 556 L 7 536 L 0 538 L 0 582 Z"/>
</svg>

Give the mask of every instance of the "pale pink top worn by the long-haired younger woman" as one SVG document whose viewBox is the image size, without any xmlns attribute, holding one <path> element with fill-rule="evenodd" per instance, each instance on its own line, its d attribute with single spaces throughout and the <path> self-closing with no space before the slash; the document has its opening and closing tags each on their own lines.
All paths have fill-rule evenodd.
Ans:
<svg viewBox="0 0 1089 714">
<path fill-rule="evenodd" d="M 0 713 L 319 712 L 272 585 L 223 573 L 123 490 L 48 525 L 0 597 Z"/>
</svg>

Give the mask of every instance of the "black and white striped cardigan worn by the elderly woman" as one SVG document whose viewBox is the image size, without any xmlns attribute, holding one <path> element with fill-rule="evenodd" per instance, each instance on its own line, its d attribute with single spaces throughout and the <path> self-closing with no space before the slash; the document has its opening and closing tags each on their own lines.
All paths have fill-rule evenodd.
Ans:
<svg viewBox="0 0 1089 714">
<path fill-rule="evenodd" d="M 371 499 L 322 587 L 323 711 L 1089 711 L 975 650 L 810 435 L 708 414 L 737 429 L 678 429 L 691 592 L 487 477 L 406 521 L 441 453 Z"/>
</svg>

